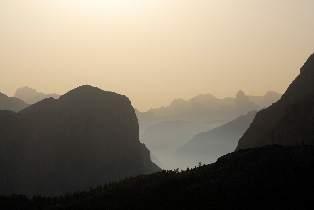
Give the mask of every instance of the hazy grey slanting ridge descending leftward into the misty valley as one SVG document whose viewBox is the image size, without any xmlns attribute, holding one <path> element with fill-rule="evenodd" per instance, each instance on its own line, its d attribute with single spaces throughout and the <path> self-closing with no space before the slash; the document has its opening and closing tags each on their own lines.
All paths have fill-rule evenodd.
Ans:
<svg viewBox="0 0 314 210">
<path fill-rule="evenodd" d="M 194 167 L 199 162 L 214 163 L 220 156 L 234 150 L 238 139 L 250 126 L 256 113 L 256 110 L 250 111 L 220 127 L 197 134 L 171 155 L 166 166 L 184 169 L 188 165 Z"/>
</svg>

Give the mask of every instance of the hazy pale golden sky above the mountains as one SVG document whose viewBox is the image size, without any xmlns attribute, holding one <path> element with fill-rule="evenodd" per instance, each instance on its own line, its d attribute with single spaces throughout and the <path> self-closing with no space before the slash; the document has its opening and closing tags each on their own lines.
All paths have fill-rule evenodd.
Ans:
<svg viewBox="0 0 314 210">
<path fill-rule="evenodd" d="M 314 51 L 314 1 L 0 0 L 0 92 L 89 84 L 140 111 L 284 93 Z"/>
</svg>

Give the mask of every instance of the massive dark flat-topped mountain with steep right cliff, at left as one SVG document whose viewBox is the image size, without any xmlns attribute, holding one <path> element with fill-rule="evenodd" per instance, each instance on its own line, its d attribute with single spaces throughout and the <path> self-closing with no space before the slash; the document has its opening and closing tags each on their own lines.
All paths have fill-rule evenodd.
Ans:
<svg viewBox="0 0 314 210">
<path fill-rule="evenodd" d="M 160 170 L 130 100 L 89 85 L 0 111 L 0 135 L 0 194 L 53 196 Z"/>
</svg>

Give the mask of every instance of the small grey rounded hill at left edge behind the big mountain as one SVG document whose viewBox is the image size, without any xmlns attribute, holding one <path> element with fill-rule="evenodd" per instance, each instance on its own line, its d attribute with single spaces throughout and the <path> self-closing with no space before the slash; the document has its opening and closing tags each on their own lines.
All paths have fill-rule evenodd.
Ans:
<svg viewBox="0 0 314 210">
<path fill-rule="evenodd" d="M 30 104 L 25 103 L 23 100 L 15 97 L 8 97 L 6 94 L 0 92 L 0 110 L 7 109 L 18 112 L 28 106 L 30 106 Z"/>
</svg>

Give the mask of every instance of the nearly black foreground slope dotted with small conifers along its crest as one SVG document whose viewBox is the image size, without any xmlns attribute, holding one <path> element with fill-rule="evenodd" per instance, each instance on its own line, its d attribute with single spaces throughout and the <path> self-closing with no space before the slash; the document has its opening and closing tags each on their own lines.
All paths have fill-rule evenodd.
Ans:
<svg viewBox="0 0 314 210">
<path fill-rule="evenodd" d="M 59 197 L 2 196 L 6 209 L 312 209 L 314 145 L 238 150 L 183 172 L 129 177 Z"/>
</svg>

